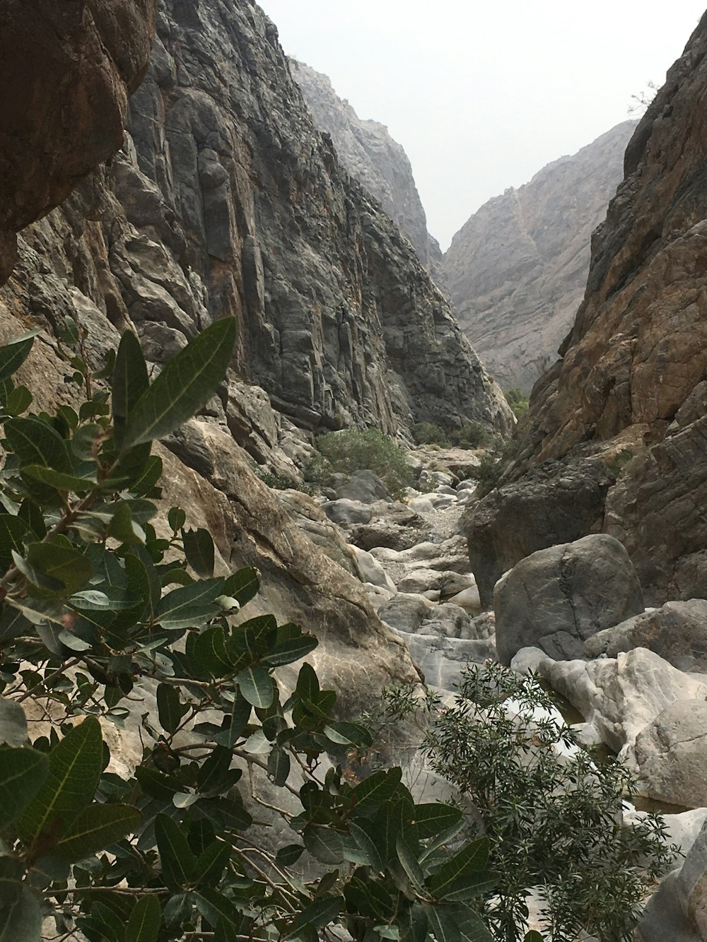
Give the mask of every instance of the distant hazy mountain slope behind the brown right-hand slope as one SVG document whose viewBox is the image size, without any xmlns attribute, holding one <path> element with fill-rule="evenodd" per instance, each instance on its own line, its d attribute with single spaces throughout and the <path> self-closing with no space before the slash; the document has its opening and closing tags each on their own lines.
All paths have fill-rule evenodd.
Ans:
<svg viewBox="0 0 707 942">
<path fill-rule="evenodd" d="M 591 235 L 622 179 L 635 125 L 617 124 L 489 200 L 452 239 L 443 264 L 454 311 L 506 389 L 529 391 L 572 325 Z"/>
</svg>

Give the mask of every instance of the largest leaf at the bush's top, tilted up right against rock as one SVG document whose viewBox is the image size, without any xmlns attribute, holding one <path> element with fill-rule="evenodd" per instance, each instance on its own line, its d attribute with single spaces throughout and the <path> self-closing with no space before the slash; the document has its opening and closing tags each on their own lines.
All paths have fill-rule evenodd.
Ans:
<svg viewBox="0 0 707 942">
<path fill-rule="evenodd" d="M 121 448 L 163 438 L 201 409 L 223 380 L 235 340 L 236 320 L 223 317 L 180 350 L 132 408 Z"/>
</svg>

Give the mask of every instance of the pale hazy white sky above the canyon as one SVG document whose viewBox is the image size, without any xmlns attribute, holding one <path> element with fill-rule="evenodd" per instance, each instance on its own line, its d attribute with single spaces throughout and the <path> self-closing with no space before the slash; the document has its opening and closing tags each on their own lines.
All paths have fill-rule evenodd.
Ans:
<svg viewBox="0 0 707 942">
<path fill-rule="evenodd" d="M 387 125 L 446 249 L 482 203 L 626 121 L 705 0 L 259 0 L 289 56 Z"/>
</svg>

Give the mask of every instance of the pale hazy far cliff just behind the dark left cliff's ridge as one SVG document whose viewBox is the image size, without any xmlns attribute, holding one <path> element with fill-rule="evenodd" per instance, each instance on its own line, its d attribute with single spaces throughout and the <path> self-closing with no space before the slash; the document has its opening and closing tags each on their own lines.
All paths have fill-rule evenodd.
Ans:
<svg viewBox="0 0 707 942">
<path fill-rule="evenodd" d="M 360 119 L 348 101 L 338 97 L 326 75 L 295 59 L 289 60 L 289 66 L 314 122 L 332 138 L 341 163 L 381 203 L 442 286 L 442 252 L 427 232 L 427 218 L 403 147 L 390 137 L 385 124 Z"/>
</svg>

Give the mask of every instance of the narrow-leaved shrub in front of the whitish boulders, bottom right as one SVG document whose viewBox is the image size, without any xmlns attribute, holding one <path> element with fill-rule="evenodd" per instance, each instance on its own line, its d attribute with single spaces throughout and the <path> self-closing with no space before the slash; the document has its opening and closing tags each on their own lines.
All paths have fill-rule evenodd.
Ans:
<svg viewBox="0 0 707 942">
<path fill-rule="evenodd" d="M 483 820 L 499 874 L 484 913 L 499 942 L 521 937 L 532 887 L 553 942 L 581 931 L 624 942 L 675 849 L 659 818 L 622 823 L 630 772 L 616 760 L 595 764 L 555 716 L 536 681 L 500 665 L 468 667 L 455 705 L 434 711 L 426 748 Z"/>
</svg>

